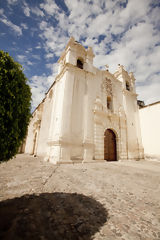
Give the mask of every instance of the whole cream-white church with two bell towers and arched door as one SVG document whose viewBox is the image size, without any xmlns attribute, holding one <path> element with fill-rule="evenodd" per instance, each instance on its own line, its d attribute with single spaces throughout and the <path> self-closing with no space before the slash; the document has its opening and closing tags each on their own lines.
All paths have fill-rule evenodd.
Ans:
<svg viewBox="0 0 160 240">
<path fill-rule="evenodd" d="M 54 164 L 142 159 L 133 73 L 93 66 L 92 48 L 73 37 L 58 74 L 32 114 L 24 152 Z"/>
</svg>

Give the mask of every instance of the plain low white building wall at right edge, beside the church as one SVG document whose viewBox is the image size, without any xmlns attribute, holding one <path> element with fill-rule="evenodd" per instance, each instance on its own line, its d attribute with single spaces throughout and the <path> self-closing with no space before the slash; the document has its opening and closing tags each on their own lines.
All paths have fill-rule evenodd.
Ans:
<svg viewBox="0 0 160 240">
<path fill-rule="evenodd" d="M 160 101 L 139 110 L 145 157 L 160 159 Z"/>
</svg>

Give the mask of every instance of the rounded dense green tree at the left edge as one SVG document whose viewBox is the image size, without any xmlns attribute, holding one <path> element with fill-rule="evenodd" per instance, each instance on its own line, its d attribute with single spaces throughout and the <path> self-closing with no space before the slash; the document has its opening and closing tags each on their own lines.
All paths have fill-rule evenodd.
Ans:
<svg viewBox="0 0 160 240">
<path fill-rule="evenodd" d="M 0 161 L 12 158 L 26 136 L 31 91 L 22 66 L 0 51 Z"/>
</svg>

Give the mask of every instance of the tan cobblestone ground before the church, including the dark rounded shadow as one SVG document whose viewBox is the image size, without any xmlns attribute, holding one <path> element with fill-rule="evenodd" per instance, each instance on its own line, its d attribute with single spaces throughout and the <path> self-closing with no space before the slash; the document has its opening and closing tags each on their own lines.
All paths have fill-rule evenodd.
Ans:
<svg viewBox="0 0 160 240">
<path fill-rule="evenodd" d="M 1 239 L 160 239 L 160 162 L 0 164 Z"/>
</svg>

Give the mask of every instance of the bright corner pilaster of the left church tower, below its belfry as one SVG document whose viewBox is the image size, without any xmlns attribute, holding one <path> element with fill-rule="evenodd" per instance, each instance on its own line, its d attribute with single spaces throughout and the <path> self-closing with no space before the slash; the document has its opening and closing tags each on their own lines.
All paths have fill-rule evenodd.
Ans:
<svg viewBox="0 0 160 240">
<path fill-rule="evenodd" d="M 66 71 L 56 85 L 46 160 L 52 163 L 70 162 L 72 75 Z"/>
</svg>

